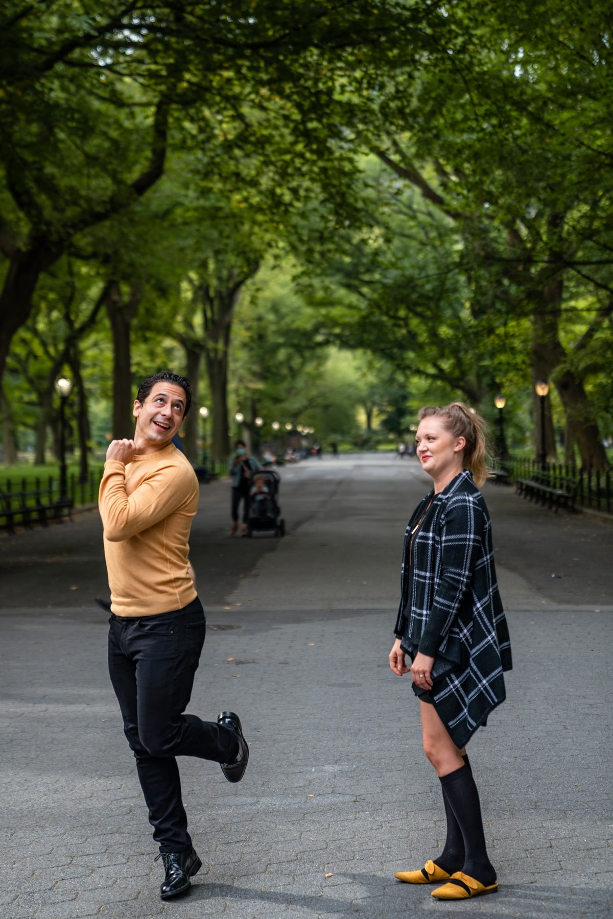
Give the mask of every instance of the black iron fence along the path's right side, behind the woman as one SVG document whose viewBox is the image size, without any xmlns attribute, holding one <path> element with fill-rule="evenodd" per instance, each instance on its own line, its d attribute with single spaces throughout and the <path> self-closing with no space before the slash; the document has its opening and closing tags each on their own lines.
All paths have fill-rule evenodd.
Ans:
<svg viewBox="0 0 613 919">
<path fill-rule="evenodd" d="M 510 459 L 505 466 L 511 471 L 513 482 L 517 479 L 534 479 L 545 475 L 552 488 L 570 490 L 576 487 L 576 503 L 610 514 L 611 471 L 581 469 L 570 463 L 548 462 L 544 465 L 535 459 Z"/>
</svg>

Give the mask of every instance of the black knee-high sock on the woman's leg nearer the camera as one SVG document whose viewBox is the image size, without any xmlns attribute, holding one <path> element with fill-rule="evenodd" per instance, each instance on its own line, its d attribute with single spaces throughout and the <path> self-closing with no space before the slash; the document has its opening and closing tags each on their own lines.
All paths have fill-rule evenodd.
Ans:
<svg viewBox="0 0 613 919">
<path fill-rule="evenodd" d="M 486 887 L 494 884 L 496 872 L 485 847 L 479 792 L 471 769 L 469 766 L 461 766 L 448 776 L 443 776 L 440 781 L 451 810 L 460 824 L 464 842 L 464 864 L 461 870 Z"/>
</svg>

